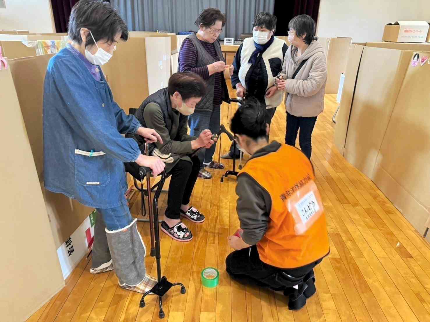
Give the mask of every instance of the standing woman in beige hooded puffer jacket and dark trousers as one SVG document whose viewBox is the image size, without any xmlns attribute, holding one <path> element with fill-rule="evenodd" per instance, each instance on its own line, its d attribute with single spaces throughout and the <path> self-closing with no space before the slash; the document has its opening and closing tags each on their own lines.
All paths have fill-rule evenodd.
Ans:
<svg viewBox="0 0 430 322">
<path fill-rule="evenodd" d="M 310 159 L 311 135 L 316 117 L 324 110 L 327 80 L 326 55 L 315 37 L 315 21 L 308 15 L 298 15 L 289 22 L 288 40 L 291 46 L 284 57 L 283 71 L 277 81 L 278 90 L 286 92 L 287 128 L 285 143 L 299 143 Z M 294 79 L 295 70 L 301 66 Z"/>
</svg>

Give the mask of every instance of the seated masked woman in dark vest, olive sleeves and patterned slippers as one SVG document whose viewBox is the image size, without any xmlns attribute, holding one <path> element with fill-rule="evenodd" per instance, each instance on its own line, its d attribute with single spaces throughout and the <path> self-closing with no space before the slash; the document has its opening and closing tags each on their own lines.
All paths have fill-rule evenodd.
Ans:
<svg viewBox="0 0 430 322">
<path fill-rule="evenodd" d="M 147 97 L 135 114 L 142 125 L 156 130 L 163 140 L 151 147 L 151 153 L 166 162 L 165 170 L 172 175 L 161 230 L 181 242 L 190 241 L 193 235 L 180 216 L 195 223 L 205 220 L 205 216 L 190 205 L 200 170 L 199 158 L 191 154 L 195 149 L 209 148 L 214 141 L 209 130 L 199 137 L 187 134 L 188 115 L 194 112 L 205 94 L 206 84 L 200 76 L 190 72 L 175 73 L 168 87 Z"/>
</svg>

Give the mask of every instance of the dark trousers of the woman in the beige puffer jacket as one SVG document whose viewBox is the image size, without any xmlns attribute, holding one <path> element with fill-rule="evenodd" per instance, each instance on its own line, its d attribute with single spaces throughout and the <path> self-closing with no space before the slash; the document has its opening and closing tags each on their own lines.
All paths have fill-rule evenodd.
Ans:
<svg viewBox="0 0 430 322">
<path fill-rule="evenodd" d="M 312 154 L 312 144 L 310 142 L 313 128 L 315 127 L 316 116 L 301 117 L 294 116 L 287 112 L 287 130 L 285 134 L 285 144 L 295 146 L 297 132 L 300 128 L 298 142 L 301 151 L 310 159 Z"/>
</svg>

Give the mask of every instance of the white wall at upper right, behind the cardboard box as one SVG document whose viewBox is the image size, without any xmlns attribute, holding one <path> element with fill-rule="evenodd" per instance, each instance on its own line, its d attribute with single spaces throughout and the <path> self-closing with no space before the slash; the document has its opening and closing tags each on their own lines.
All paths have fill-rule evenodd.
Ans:
<svg viewBox="0 0 430 322">
<path fill-rule="evenodd" d="M 321 0 L 317 35 L 380 41 L 384 25 L 396 20 L 429 21 L 428 0 Z"/>
</svg>

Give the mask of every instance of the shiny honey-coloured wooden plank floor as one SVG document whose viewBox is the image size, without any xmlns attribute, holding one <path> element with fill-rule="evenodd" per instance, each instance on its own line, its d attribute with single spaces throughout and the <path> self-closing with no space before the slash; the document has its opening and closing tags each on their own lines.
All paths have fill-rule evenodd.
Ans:
<svg viewBox="0 0 430 322">
<path fill-rule="evenodd" d="M 192 204 L 206 215 L 201 225 L 188 224 L 190 243 L 161 237 L 163 274 L 184 283 L 164 296 L 166 322 L 182 321 L 430 321 L 430 245 L 362 173 L 347 163 L 333 144 L 334 95 L 326 95 L 326 110 L 313 132 L 312 161 L 326 209 L 331 253 L 316 267 L 317 294 L 298 312 L 287 308 L 283 295 L 243 286 L 225 272 L 224 260 L 232 251 L 227 237 L 236 231 L 236 180 L 220 182 L 224 171 L 214 170 L 212 180 L 198 179 Z M 230 117 L 231 117 L 230 111 Z M 286 113 L 280 106 L 272 121 L 270 139 L 283 142 Z M 222 108 L 227 123 L 227 105 Z M 230 142 L 222 140 L 225 153 Z M 215 160 L 218 156 L 217 155 Z M 231 161 L 227 162 L 231 168 Z M 133 216 L 140 214 L 140 196 L 132 200 Z M 160 198 L 160 213 L 166 195 Z M 147 249 L 149 228 L 138 224 Z M 118 287 L 113 271 L 89 273 L 84 258 L 66 286 L 28 321 L 158 321 L 156 297 L 139 308 L 140 295 Z M 154 258 L 146 258 L 147 271 L 156 276 Z M 200 283 L 204 267 L 218 267 L 217 288 Z"/>
</svg>

